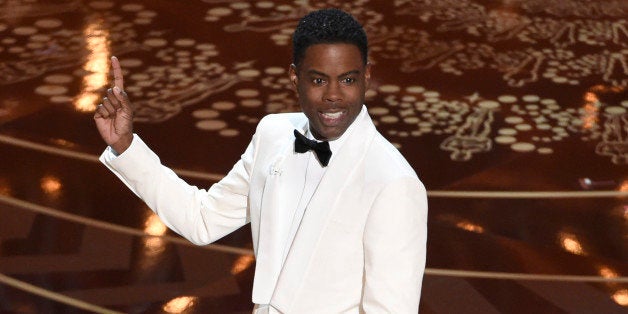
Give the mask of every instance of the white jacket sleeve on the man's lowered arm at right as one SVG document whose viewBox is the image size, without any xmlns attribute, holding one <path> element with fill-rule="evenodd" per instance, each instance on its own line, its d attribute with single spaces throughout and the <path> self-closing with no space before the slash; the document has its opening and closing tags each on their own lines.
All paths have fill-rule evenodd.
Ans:
<svg viewBox="0 0 628 314">
<path fill-rule="evenodd" d="M 365 313 L 413 313 L 425 270 L 427 194 L 414 177 L 387 184 L 364 230 Z"/>
</svg>

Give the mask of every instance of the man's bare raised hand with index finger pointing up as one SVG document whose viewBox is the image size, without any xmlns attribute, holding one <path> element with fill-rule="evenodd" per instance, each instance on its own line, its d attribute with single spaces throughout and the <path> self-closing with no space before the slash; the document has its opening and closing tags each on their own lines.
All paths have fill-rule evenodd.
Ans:
<svg viewBox="0 0 628 314">
<path fill-rule="evenodd" d="M 126 92 L 118 58 L 111 57 L 114 86 L 94 112 L 96 128 L 102 139 L 118 154 L 123 153 L 133 141 L 133 108 Z"/>
</svg>

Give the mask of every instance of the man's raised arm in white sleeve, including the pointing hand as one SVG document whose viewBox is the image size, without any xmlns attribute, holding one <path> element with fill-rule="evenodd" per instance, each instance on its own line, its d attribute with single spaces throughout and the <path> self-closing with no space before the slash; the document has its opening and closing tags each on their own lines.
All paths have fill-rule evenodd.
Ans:
<svg viewBox="0 0 628 314">
<path fill-rule="evenodd" d="M 188 184 L 133 135 L 133 108 L 123 89 L 120 62 L 112 57 L 111 65 L 114 86 L 107 90 L 94 120 L 103 140 L 117 154 L 108 148 L 100 156 L 101 162 L 169 228 L 193 243 L 211 243 L 247 223 L 254 141 L 232 171 L 210 189 Z"/>
</svg>

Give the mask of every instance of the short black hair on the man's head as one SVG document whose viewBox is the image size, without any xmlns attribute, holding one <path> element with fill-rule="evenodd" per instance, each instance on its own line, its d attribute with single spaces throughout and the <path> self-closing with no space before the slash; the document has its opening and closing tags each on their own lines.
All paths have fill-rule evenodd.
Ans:
<svg viewBox="0 0 628 314">
<path fill-rule="evenodd" d="M 312 11 L 299 20 L 292 36 L 292 63 L 298 66 L 312 45 L 335 43 L 355 45 L 367 63 L 366 32 L 351 14 L 334 8 Z"/>
</svg>

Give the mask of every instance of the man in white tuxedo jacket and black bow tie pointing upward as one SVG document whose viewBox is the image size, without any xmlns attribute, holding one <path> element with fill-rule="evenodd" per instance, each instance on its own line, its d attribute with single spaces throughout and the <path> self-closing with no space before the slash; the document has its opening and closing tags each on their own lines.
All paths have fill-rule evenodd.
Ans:
<svg viewBox="0 0 628 314">
<path fill-rule="evenodd" d="M 254 313 L 418 311 L 426 193 L 363 105 L 367 46 L 347 13 L 303 17 L 289 73 L 303 113 L 264 117 L 241 159 L 207 191 L 162 166 L 133 134 L 122 71 L 112 58 L 115 87 L 94 115 L 109 145 L 101 160 L 196 244 L 250 222 Z"/>
</svg>

